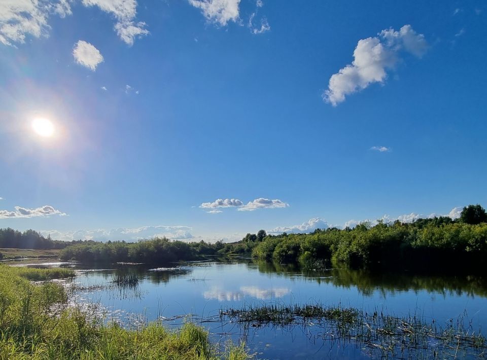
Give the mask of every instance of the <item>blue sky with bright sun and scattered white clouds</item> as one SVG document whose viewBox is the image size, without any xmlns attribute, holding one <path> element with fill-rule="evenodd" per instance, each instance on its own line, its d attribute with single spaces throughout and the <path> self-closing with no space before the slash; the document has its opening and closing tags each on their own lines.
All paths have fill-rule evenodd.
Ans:
<svg viewBox="0 0 487 360">
<path fill-rule="evenodd" d="M 235 241 L 487 205 L 485 1 L 2 0 L 0 228 Z"/>
</svg>

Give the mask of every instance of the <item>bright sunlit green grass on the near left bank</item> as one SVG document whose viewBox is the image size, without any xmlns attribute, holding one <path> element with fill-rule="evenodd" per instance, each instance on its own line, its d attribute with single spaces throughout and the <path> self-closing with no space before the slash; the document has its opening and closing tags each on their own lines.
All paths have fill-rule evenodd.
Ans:
<svg viewBox="0 0 487 360">
<path fill-rule="evenodd" d="M 218 349 L 193 323 L 169 331 L 153 322 L 135 330 L 68 306 L 59 282 L 67 269 L 0 265 L 0 359 L 232 359 L 248 358 L 243 346 Z"/>
</svg>

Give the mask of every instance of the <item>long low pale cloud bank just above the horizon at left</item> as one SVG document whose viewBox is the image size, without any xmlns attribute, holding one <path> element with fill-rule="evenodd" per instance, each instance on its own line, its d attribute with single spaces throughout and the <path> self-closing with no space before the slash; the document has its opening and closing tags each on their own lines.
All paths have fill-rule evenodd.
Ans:
<svg viewBox="0 0 487 360">
<path fill-rule="evenodd" d="M 153 237 L 167 237 L 174 240 L 189 240 L 193 238 L 192 228 L 188 226 L 143 226 L 140 228 L 95 229 L 77 231 L 42 231 L 45 236 L 51 235 L 55 240 L 94 240 L 94 241 L 137 241 Z"/>
</svg>

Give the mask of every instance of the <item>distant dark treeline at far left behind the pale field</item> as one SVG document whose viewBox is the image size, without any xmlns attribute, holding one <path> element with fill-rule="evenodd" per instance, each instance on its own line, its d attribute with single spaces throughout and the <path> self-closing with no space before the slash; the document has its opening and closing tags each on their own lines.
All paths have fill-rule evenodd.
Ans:
<svg viewBox="0 0 487 360">
<path fill-rule="evenodd" d="M 62 249 L 79 241 L 55 241 L 51 236 L 44 237 L 34 230 L 20 232 L 11 228 L 0 229 L 0 248 L 15 249 Z"/>
</svg>

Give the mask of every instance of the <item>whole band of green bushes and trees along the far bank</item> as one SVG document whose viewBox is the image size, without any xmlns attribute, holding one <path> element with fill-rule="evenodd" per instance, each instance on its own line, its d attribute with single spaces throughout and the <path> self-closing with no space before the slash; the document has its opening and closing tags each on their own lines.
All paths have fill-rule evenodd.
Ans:
<svg viewBox="0 0 487 360">
<path fill-rule="evenodd" d="M 449 217 L 399 221 L 353 229 L 317 229 L 309 234 L 247 234 L 235 243 L 171 241 L 155 238 L 135 243 L 84 241 L 61 250 L 61 258 L 84 262 L 167 263 L 208 256 L 252 254 L 277 263 L 326 267 L 331 262 L 352 267 L 451 268 L 481 266 L 487 257 L 487 213 L 466 206 L 460 219 Z"/>
</svg>

